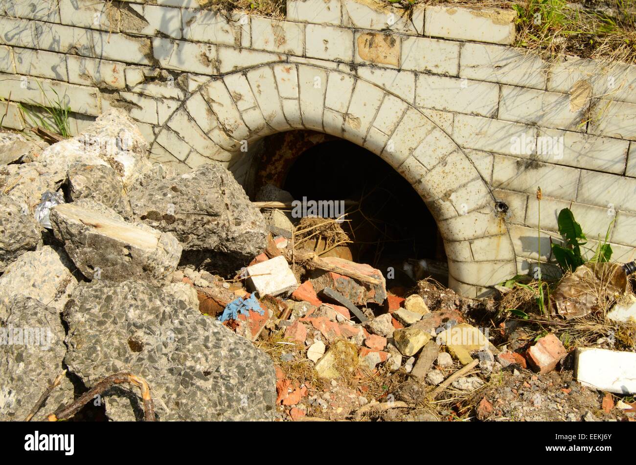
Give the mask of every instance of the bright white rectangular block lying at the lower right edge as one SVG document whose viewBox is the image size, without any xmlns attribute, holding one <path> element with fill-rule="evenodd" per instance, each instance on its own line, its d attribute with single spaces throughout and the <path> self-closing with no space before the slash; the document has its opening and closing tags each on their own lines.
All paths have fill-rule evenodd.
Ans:
<svg viewBox="0 0 636 465">
<path fill-rule="evenodd" d="M 616 394 L 636 394 L 636 353 L 579 347 L 574 378 L 584 386 Z"/>
</svg>

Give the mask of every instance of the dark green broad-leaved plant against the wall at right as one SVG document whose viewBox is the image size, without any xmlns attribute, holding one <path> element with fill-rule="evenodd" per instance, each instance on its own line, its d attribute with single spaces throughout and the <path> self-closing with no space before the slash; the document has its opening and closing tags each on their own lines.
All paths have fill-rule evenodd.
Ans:
<svg viewBox="0 0 636 465">
<path fill-rule="evenodd" d="M 563 208 L 558 214 L 558 232 L 565 239 L 565 246 L 552 244 L 552 253 L 563 271 L 574 271 L 585 262 L 609 262 L 612 257 L 612 246 L 608 241 L 613 224 L 614 220 L 607 227 L 604 241 L 598 243 L 593 257 L 587 260 L 581 248 L 587 244 L 588 238 L 583 233 L 581 225 L 574 219 L 572 211 L 569 208 Z"/>
</svg>

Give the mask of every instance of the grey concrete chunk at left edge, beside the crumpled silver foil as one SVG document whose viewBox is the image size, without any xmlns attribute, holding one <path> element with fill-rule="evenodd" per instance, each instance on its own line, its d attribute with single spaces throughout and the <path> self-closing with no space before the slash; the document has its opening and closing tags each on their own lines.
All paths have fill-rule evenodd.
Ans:
<svg viewBox="0 0 636 465">
<path fill-rule="evenodd" d="M 0 273 L 22 253 L 35 250 L 40 240 L 40 228 L 33 215 L 0 194 Z"/>
</svg>

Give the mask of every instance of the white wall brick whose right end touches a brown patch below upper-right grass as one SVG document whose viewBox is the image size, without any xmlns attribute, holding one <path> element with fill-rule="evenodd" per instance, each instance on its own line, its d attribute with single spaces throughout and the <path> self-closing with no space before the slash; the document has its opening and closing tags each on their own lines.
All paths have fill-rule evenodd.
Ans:
<svg viewBox="0 0 636 465">
<path fill-rule="evenodd" d="M 563 93 L 502 86 L 499 119 L 584 131 L 588 105 L 586 102 L 582 108 L 572 107 L 570 95 Z"/>
</svg>

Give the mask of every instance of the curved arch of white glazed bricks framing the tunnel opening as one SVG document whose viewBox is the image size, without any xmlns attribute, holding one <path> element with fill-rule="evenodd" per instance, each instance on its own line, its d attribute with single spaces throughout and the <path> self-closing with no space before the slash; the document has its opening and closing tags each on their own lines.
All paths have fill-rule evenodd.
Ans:
<svg viewBox="0 0 636 465">
<path fill-rule="evenodd" d="M 213 77 L 167 119 L 151 153 L 182 171 L 209 160 L 229 166 L 260 138 L 296 129 L 361 145 L 413 185 L 438 224 L 458 292 L 479 295 L 516 273 L 508 229 L 473 160 L 422 111 L 349 72 L 285 62 Z"/>
</svg>

